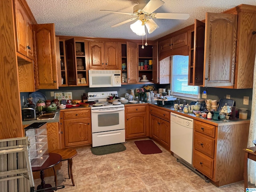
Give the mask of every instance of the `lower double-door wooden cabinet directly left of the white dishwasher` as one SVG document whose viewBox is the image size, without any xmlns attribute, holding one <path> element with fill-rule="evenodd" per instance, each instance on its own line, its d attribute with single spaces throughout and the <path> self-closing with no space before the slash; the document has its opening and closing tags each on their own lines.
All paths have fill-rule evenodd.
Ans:
<svg viewBox="0 0 256 192">
<path fill-rule="evenodd" d="M 170 151 L 170 112 L 149 107 L 150 137 Z"/>
</svg>

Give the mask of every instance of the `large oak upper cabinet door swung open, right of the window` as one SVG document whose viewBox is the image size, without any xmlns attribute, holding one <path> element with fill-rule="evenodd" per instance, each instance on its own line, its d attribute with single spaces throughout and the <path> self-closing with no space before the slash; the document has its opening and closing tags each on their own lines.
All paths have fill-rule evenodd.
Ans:
<svg viewBox="0 0 256 192">
<path fill-rule="evenodd" d="M 234 85 L 237 15 L 206 13 L 204 87 Z"/>
</svg>

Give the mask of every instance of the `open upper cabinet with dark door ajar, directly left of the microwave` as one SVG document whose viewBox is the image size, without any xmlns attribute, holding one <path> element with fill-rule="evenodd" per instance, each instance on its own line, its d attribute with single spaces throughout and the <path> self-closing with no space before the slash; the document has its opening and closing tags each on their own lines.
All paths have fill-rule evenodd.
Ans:
<svg viewBox="0 0 256 192">
<path fill-rule="evenodd" d="M 88 86 L 88 42 L 72 38 L 65 41 L 66 65 L 61 70 L 61 75 L 65 74 L 65 85 Z M 61 44 L 60 44 L 61 48 Z M 63 48 L 64 49 L 64 48 Z M 60 49 L 62 52 L 62 49 Z M 64 50 L 63 50 L 64 53 Z M 64 55 L 63 55 L 64 56 Z M 62 56 L 61 56 L 62 58 Z M 63 58 L 64 60 L 64 58 Z M 65 62 L 65 60 L 64 60 Z M 67 75 L 66 75 L 67 74 Z M 85 78 L 86 83 L 78 82 Z M 64 79 L 64 78 L 63 78 Z"/>
</svg>

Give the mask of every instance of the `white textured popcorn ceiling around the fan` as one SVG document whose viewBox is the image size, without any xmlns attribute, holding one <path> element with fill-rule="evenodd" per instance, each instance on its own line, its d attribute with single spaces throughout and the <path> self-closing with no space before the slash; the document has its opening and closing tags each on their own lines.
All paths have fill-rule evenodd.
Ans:
<svg viewBox="0 0 256 192">
<path fill-rule="evenodd" d="M 134 16 L 100 12 L 114 10 L 133 12 L 137 0 L 26 0 L 38 24 L 54 23 L 56 35 L 124 38 L 140 40 L 130 29 L 135 21 L 111 28 Z M 256 6 L 256 0 L 163 0 L 165 4 L 155 12 L 189 13 L 188 20 L 154 19 L 159 28 L 147 34 L 156 40 L 171 32 L 204 20 L 206 12 L 223 12 L 239 4 Z"/>
</svg>

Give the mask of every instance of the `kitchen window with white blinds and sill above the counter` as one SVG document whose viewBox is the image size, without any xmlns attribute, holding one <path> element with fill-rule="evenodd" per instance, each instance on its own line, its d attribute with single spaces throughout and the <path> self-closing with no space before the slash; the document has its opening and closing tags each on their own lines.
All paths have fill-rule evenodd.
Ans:
<svg viewBox="0 0 256 192">
<path fill-rule="evenodd" d="M 198 86 L 188 86 L 188 56 L 172 56 L 171 94 L 186 98 L 200 98 Z"/>
</svg>

